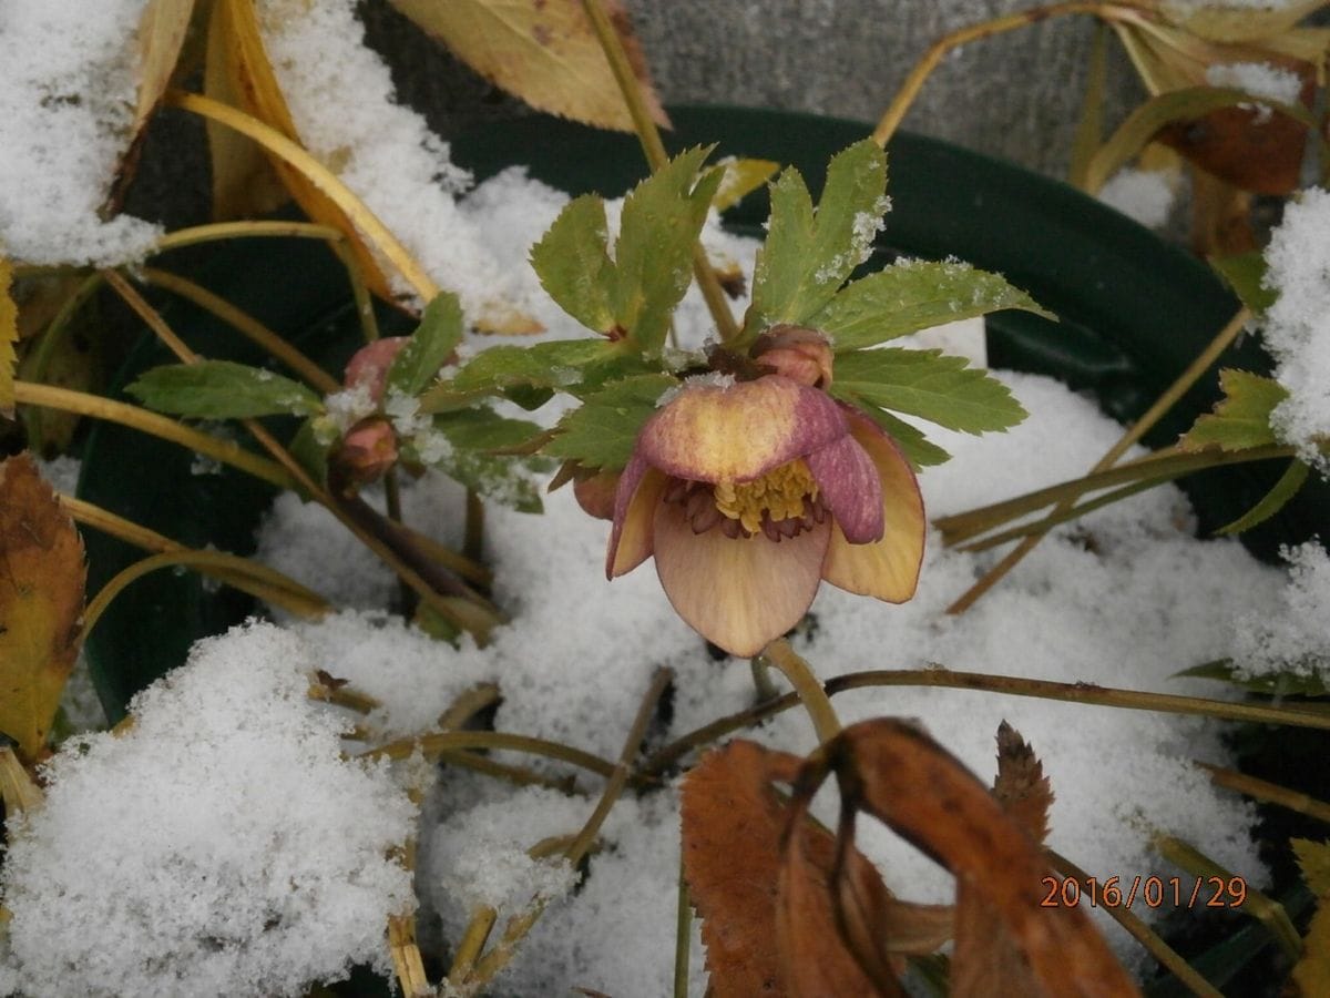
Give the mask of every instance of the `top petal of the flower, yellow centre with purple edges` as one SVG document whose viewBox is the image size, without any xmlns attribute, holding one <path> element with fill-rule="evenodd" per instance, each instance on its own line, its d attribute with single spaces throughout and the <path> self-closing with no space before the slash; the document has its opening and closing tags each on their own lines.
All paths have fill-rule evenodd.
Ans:
<svg viewBox="0 0 1330 998">
<path fill-rule="evenodd" d="M 778 374 L 685 385 L 646 424 L 638 452 L 676 478 L 749 482 L 846 434 L 831 398 Z"/>
</svg>

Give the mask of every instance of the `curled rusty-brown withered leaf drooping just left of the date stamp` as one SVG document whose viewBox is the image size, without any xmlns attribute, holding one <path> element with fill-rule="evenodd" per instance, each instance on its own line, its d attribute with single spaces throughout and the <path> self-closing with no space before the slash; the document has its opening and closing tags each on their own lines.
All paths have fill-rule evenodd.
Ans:
<svg viewBox="0 0 1330 998">
<path fill-rule="evenodd" d="M 958 926 L 968 931 L 967 919 L 975 919 L 990 929 L 1000 923 L 1009 934 L 1037 990 L 984 994 L 1138 994 L 1084 912 L 1040 906 L 1041 880 L 1049 868 L 1039 845 L 974 774 L 919 728 L 890 719 L 863 721 L 827 743 L 825 752 L 846 801 L 955 874 L 959 901 L 967 905 L 958 910 Z M 978 910 L 972 908 L 976 901 L 982 905 Z M 983 977 L 990 970 L 1000 971 L 962 966 L 955 973 Z"/>
</svg>

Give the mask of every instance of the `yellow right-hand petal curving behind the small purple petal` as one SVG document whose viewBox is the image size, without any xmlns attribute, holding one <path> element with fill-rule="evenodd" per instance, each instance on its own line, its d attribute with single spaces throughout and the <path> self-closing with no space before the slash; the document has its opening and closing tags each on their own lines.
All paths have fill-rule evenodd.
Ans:
<svg viewBox="0 0 1330 998">
<path fill-rule="evenodd" d="M 833 585 L 887 603 L 914 596 L 923 564 L 923 496 L 910 462 L 882 430 L 864 416 L 850 414 L 850 434 L 867 451 L 882 483 L 882 540 L 851 544 L 833 524 L 822 578 Z"/>
</svg>

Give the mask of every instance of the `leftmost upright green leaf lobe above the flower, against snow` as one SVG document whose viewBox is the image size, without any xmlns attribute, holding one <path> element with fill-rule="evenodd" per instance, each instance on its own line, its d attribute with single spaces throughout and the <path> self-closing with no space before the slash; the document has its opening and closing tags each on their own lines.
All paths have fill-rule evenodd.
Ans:
<svg viewBox="0 0 1330 998">
<path fill-rule="evenodd" d="M 605 202 L 583 194 L 564 205 L 531 248 L 540 286 L 560 309 L 602 335 L 614 329 L 614 265 L 608 245 Z"/>
</svg>

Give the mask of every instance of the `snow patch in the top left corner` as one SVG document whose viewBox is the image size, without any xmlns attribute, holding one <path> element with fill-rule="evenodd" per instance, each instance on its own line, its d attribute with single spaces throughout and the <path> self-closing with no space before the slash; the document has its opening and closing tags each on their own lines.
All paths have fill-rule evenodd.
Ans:
<svg viewBox="0 0 1330 998">
<path fill-rule="evenodd" d="M 102 221 L 134 118 L 145 0 L 11 3 L 0 21 L 0 246 L 27 263 L 113 266 L 161 229 Z"/>
</svg>

